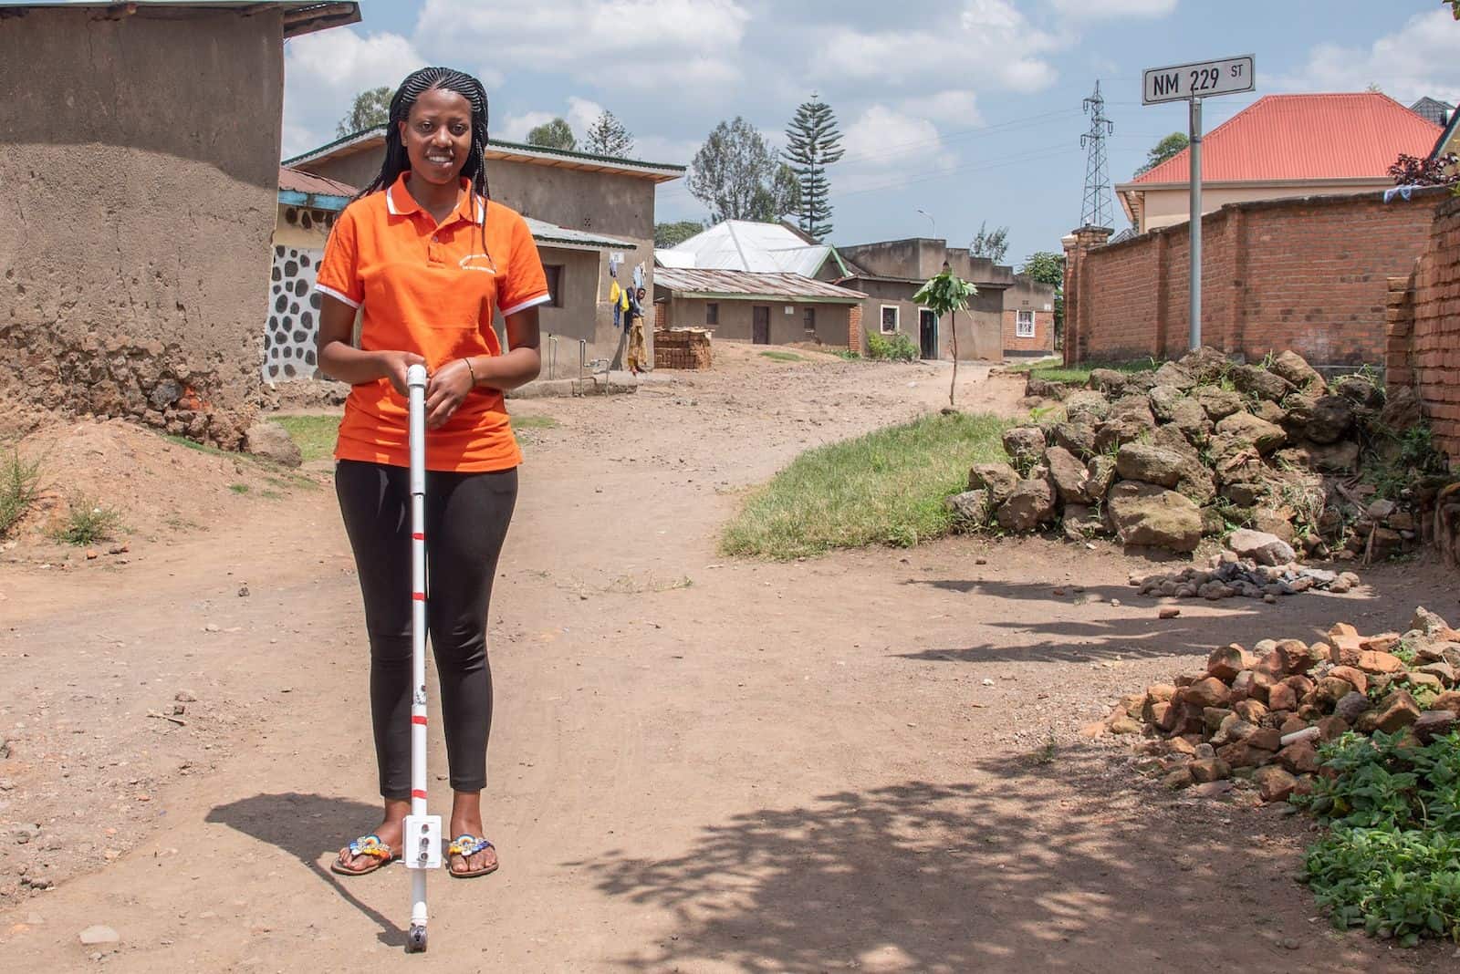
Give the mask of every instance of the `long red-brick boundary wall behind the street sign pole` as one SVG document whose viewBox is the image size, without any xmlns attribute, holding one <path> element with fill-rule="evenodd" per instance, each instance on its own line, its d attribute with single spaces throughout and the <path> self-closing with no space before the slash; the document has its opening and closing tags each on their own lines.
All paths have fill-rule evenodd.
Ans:
<svg viewBox="0 0 1460 974">
<path fill-rule="evenodd" d="M 1238 203 L 1202 220 L 1202 343 L 1315 366 L 1381 363 L 1388 277 L 1429 242 L 1442 190 Z M 1066 238 L 1066 360 L 1177 357 L 1188 347 L 1190 227 Z"/>
</svg>

